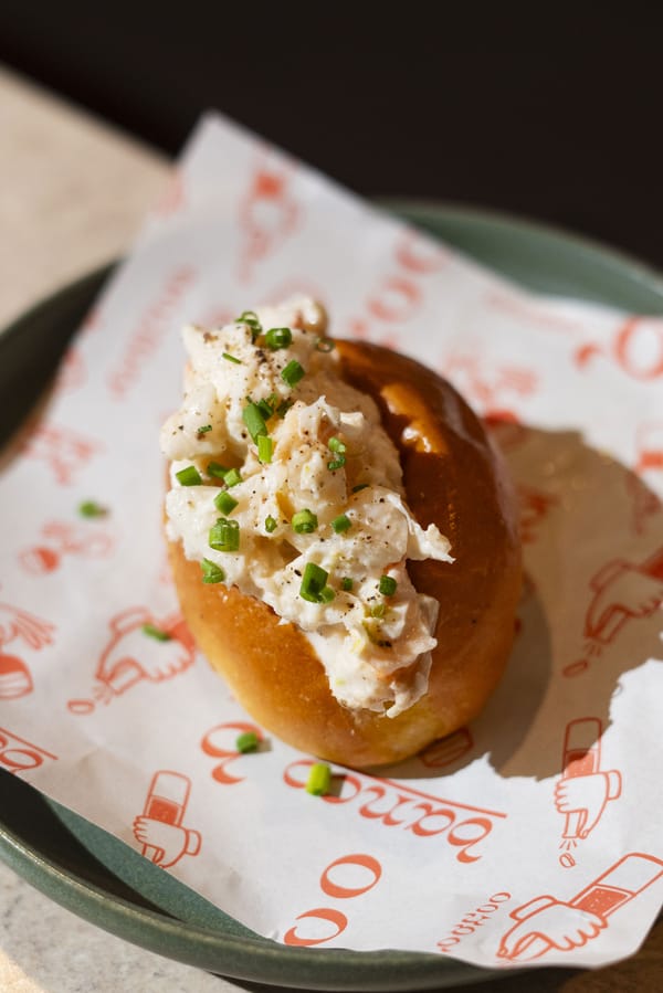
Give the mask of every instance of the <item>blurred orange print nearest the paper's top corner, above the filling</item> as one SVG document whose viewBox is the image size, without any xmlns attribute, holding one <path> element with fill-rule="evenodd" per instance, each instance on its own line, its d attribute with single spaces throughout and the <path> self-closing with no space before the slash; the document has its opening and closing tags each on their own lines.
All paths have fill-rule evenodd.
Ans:
<svg viewBox="0 0 663 993">
<path fill-rule="evenodd" d="M 239 276 L 244 283 L 253 279 L 255 267 L 274 255 L 299 224 L 302 208 L 294 198 L 293 175 L 292 166 L 269 159 L 255 167 L 239 215 Z"/>
</svg>

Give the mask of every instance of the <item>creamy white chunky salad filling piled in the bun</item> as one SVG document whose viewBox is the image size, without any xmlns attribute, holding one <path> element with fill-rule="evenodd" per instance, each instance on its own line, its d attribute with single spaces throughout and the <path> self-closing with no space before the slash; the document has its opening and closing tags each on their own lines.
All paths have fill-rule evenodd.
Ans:
<svg viewBox="0 0 663 993">
<path fill-rule="evenodd" d="M 296 297 L 255 316 L 259 335 L 239 320 L 183 330 L 185 398 L 161 430 L 171 461 L 168 537 L 182 542 L 188 559 L 213 563 L 223 582 L 296 624 L 339 703 L 394 717 L 425 693 L 436 644 L 438 603 L 414 590 L 406 562 L 452 562 L 449 541 L 435 525 L 421 528 L 408 509 L 398 452 L 372 399 L 340 379 L 338 357 L 320 339 L 318 305 Z M 271 328 L 291 330 L 287 347 L 265 344 Z M 293 362 L 304 374 L 291 385 L 282 372 Z M 243 413 L 261 401 L 276 411 L 263 406 L 272 446 L 266 463 Z M 241 476 L 228 488 L 236 506 L 227 514 L 214 505 L 225 484 L 210 474 L 210 463 Z M 189 466 L 200 485 L 178 480 Z M 303 510 L 317 522 L 297 532 L 292 520 Z M 239 549 L 210 547 L 220 517 L 239 525 Z M 302 595 L 308 563 L 327 573 L 315 602 Z M 396 581 L 392 594 L 379 591 L 381 577 Z"/>
</svg>

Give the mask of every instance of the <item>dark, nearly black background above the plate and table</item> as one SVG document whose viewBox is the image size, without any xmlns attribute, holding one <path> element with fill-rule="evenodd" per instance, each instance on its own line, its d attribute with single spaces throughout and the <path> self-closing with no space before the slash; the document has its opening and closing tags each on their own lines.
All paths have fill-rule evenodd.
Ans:
<svg viewBox="0 0 663 993">
<path fill-rule="evenodd" d="M 360 194 L 551 221 L 663 267 L 661 19 L 532 7 L 2 0 L 0 61 L 172 155 L 217 107 Z"/>
</svg>

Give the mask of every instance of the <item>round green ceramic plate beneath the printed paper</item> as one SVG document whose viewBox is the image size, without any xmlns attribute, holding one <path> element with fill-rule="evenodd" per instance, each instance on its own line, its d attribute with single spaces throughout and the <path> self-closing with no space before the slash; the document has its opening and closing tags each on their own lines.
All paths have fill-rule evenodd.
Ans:
<svg viewBox="0 0 663 993">
<path fill-rule="evenodd" d="M 532 289 L 663 314 L 663 278 L 591 242 L 464 208 L 390 207 Z M 0 331 L 0 444 L 39 397 L 109 272 L 67 286 Z M 52 899 L 99 927 L 239 980 L 290 989 L 387 991 L 450 987 L 494 974 L 440 955 L 285 948 L 260 938 L 6 772 L 0 772 L 0 856 Z"/>
</svg>

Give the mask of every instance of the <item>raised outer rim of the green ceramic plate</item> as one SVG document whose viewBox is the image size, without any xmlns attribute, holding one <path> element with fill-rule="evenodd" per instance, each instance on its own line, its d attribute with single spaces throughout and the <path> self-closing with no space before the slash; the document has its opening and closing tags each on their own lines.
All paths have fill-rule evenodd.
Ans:
<svg viewBox="0 0 663 993">
<path fill-rule="evenodd" d="M 498 225 L 505 233 L 515 229 L 534 237 L 544 236 L 548 242 L 552 239 L 567 246 L 570 243 L 575 249 L 600 261 L 603 266 L 608 264 L 608 267 L 619 270 L 623 276 L 639 286 L 649 292 L 653 290 L 661 298 L 663 311 L 663 273 L 649 263 L 598 240 L 548 222 L 481 205 L 407 197 L 380 198 L 373 202 L 414 225 L 425 222 L 427 216 L 440 220 L 446 218 L 474 225 L 488 222 Z M 9 337 L 19 335 L 23 326 L 43 314 L 59 299 L 83 294 L 91 286 L 103 285 L 116 266 L 117 260 L 108 261 L 41 296 L 9 324 L 0 327 L 0 348 Z M 27 780 L 22 782 L 31 786 Z M 0 858 L 50 899 L 96 927 L 112 931 L 149 951 L 173 958 L 185 964 L 219 972 L 231 979 L 270 985 L 287 983 L 293 987 L 312 990 L 404 991 L 440 987 L 441 983 L 480 982 L 503 976 L 505 972 L 497 968 L 473 965 L 432 951 L 391 948 L 370 951 L 290 948 L 267 938 L 228 934 L 199 923 L 169 917 L 166 912 L 144 908 L 118 895 L 108 894 L 72 869 L 62 869 L 8 828 L 1 815 Z M 108 923 L 109 919 L 114 927 Z M 138 934 L 135 932 L 137 922 L 140 926 Z M 165 947 L 165 941 L 169 941 L 170 944 Z M 185 957 L 181 955 L 183 948 L 188 952 Z M 224 958 L 228 961 L 224 961 Z M 246 963 L 248 958 L 250 961 Z M 255 965 L 261 966 L 259 973 Z M 385 969 L 389 972 L 389 981 L 381 975 Z M 522 971 L 524 970 L 517 968 L 509 969 L 509 974 Z M 322 973 L 324 978 L 320 978 Z"/>
</svg>

